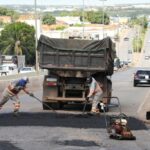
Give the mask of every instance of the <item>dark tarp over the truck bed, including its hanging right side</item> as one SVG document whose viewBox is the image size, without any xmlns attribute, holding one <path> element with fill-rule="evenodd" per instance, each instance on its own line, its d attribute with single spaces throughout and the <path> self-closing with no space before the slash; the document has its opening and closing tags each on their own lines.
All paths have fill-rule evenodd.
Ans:
<svg viewBox="0 0 150 150">
<path fill-rule="evenodd" d="M 113 73 L 113 62 L 115 57 L 115 46 L 112 40 L 107 37 L 103 40 L 78 40 L 78 39 L 57 39 L 57 38 L 49 38 L 47 36 L 41 35 L 38 41 L 37 50 L 42 57 L 42 53 L 49 51 L 57 51 L 60 52 L 69 52 L 75 51 L 78 53 L 88 52 L 96 53 L 97 51 L 106 51 L 107 57 L 104 60 L 106 61 L 106 67 L 108 74 Z M 42 58 L 43 59 L 43 58 Z M 40 59 L 40 61 L 43 61 Z M 42 62 L 40 62 L 42 63 Z"/>
</svg>

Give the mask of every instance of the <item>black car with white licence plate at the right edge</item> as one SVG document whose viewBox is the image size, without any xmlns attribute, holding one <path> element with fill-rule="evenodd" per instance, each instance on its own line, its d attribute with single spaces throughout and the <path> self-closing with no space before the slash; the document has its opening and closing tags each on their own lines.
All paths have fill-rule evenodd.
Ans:
<svg viewBox="0 0 150 150">
<path fill-rule="evenodd" d="M 137 70 L 134 74 L 133 86 L 150 84 L 150 70 Z"/>
</svg>

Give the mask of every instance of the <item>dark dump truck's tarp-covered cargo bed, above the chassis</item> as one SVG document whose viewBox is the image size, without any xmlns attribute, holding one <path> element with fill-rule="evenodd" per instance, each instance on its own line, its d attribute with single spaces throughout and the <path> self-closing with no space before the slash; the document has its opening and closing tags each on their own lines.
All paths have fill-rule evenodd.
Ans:
<svg viewBox="0 0 150 150">
<path fill-rule="evenodd" d="M 42 69 L 113 74 L 115 55 L 110 38 L 93 41 L 54 39 L 41 35 L 37 49 Z"/>
</svg>

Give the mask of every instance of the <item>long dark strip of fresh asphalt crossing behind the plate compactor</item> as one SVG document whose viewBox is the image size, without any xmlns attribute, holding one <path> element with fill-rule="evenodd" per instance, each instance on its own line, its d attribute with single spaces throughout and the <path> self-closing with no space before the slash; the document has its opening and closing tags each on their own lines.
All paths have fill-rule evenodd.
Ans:
<svg viewBox="0 0 150 150">
<path fill-rule="evenodd" d="M 0 127 L 7 126 L 49 126 L 68 128 L 106 128 L 105 115 L 69 114 L 55 112 L 20 112 L 17 117 L 13 113 L 0 114 Z M 109 124 L 109 116 L 107 115 Z M 128 117 L 131 130 L 147 130 L 146 125 L 139 119 Z"/>
</svg>

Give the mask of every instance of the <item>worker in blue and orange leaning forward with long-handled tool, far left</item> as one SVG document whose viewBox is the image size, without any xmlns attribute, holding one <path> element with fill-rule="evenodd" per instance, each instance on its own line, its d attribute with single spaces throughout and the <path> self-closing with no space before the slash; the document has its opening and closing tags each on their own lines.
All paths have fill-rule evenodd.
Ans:
<svg viewBox="0 0 150 150">
<path fill-rule="evenodd" d="M 30 93 L 26 88 L 27 83 L 29 83 L 28 77 L 23 77 L 19 80 L 15 80 L 15 81 L 11 82 L 4 89 L 4 91 L 2 93 L 2 99 L 0 101 L 0 109 L 10 99 L 10 100 L 14 101 L 14 113 L 17 113 L 20 108 L 20 101 L 19 101 L 18 93 L 21 90 L 23 90 L 26 94 L 33 96 L 33 94 Z"/>
</svg>

